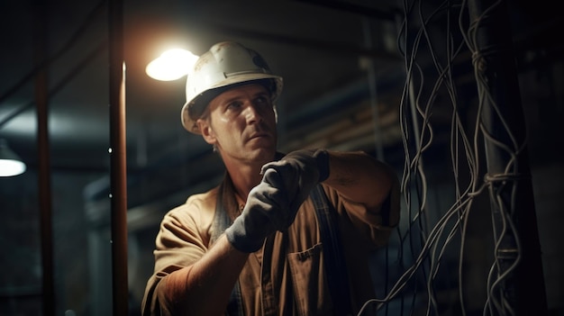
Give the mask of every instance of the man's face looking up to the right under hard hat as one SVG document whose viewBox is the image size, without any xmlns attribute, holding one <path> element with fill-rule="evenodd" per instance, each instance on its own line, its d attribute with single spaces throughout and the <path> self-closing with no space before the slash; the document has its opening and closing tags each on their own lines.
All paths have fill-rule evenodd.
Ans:
<svg viewBox="0 0 564 316">
<path fill-rule="evenodd" d="M 264 86 L 237 86 L 223 92 L 210 102 L 197 124 L 225 162 L 263 164 L 274 158 L 276 113 Z"/>
</svg>

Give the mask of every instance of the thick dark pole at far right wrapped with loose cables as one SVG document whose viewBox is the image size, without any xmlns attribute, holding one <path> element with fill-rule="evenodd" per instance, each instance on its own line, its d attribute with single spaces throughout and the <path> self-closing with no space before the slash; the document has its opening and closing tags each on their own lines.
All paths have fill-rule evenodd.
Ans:
<svg viewBox="0 0 564 316">
<path fill-rule="evenodd" d="M 478 85 L 484 85 L 485 95 L 482 120 L 487 180 L 499 242 L 497 276 L 503 278 L 496 294 L 509 304 L 497 307 L 502 309 L 500 314 L 546 315 L 541 247 L 508 8 L 503 0 L 473 0 L 468 3 L 468 11 L 470 24 L 476 26 L 476 76 Z M 509 222 L 514 223 L 515 230 Z"/>
</svg>

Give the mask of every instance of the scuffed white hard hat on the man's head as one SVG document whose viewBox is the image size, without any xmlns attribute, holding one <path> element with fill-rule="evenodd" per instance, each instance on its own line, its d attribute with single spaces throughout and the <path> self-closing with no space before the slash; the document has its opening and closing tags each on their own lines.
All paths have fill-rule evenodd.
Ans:
<svg viewBox="0 0 564 316">
<path fill-rule="evenodd" d="M 199 134 L 196 120 L 212 99 L 232 86 L 252 81 L 268 84 L 274 101 L 282 90 L 282 77 L 272 74 L 267 62 L 254 50 L 240 43 L 215 44 L 196 61 L 186 79 L 186 104 L 182 107 L 182 125 Z"/>
</svg>

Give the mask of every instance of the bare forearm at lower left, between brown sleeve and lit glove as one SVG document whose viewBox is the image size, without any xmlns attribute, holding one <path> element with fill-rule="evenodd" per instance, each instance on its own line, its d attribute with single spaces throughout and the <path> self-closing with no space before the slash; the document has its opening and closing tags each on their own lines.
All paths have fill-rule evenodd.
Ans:
<svg viewBox="0 0 564 316">
<path fill-rule="evenodd" d="M 248 257 L 220 237 L 193 266 L 167 276 L 167 301 L 181 315 L 223 315 Z"/>
</svg>

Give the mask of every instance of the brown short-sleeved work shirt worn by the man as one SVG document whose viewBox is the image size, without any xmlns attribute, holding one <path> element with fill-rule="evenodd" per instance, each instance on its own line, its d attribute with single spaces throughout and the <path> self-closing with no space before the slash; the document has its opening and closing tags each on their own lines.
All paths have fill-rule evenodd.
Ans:
<svg viewBox="0 0 564 316">
<path fill-rule="evenodd" d="M 219 188 L 190 196 L 164 216 L 154 250 L 154 274 L 143 300 L 144 315 L 168 315 L 174 310 L 172 302 L 161 302 L 165 296 L 159 295 L 159 285 L 170 273 L 194 264 L 211 247 Z M 350 302 L 356 315 L 367 300 L 375 297 L 369 255 L 387 243 L 392 227 L 385 221 L 390 210 L 368 212 L 331 187 L 323 185 L 323 189 L 338 213 L 341 252 L 348 267 Z M 383 205 L 390 208 L 397 204 L 388 201 Z M 239 277 L 245 315 L 331 315 L 333 302 L 340 298 L 331 297 L 323 261 L 314 203 L 308 198 L 287 231 L 277 231 L 259 251 L 250 254 Z M 374 314 L 373 308 L 368 310 Z"/>
</svg>

